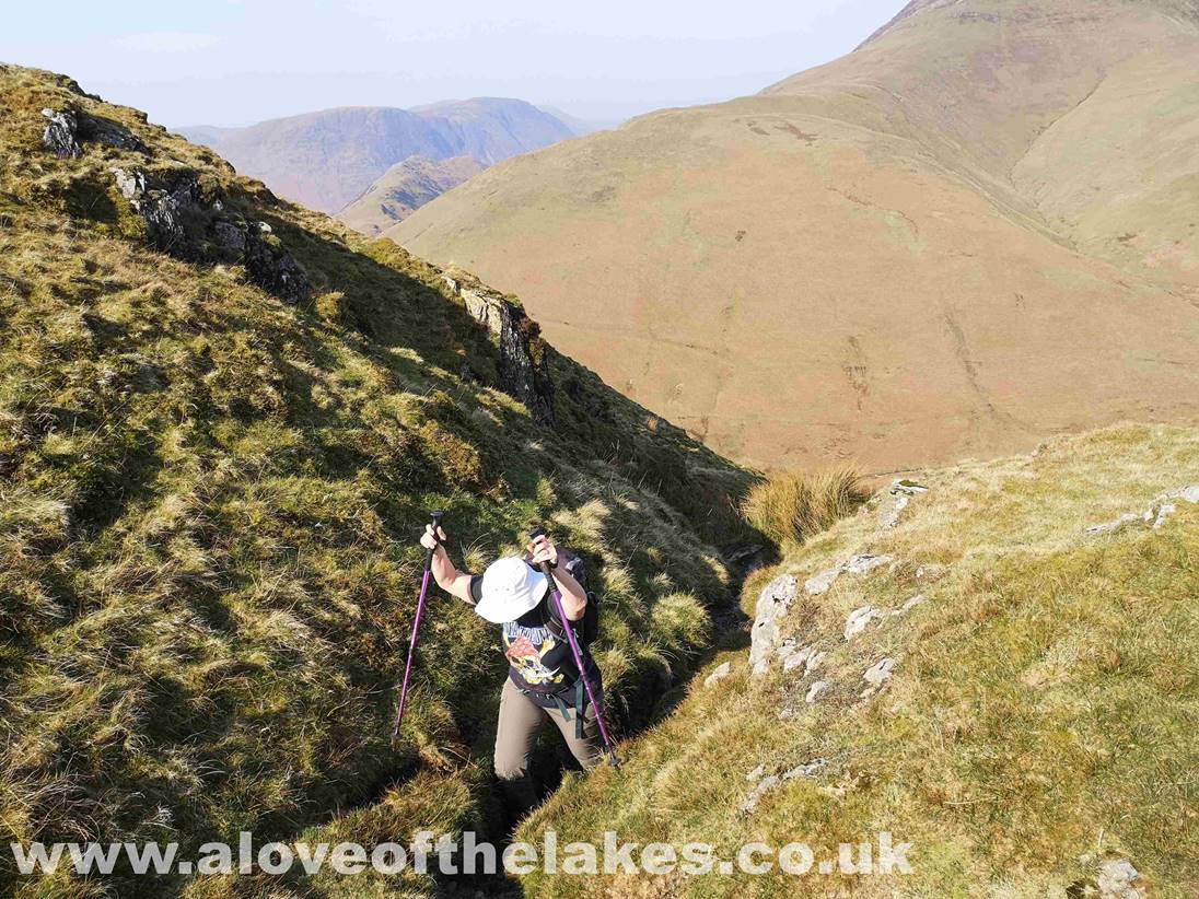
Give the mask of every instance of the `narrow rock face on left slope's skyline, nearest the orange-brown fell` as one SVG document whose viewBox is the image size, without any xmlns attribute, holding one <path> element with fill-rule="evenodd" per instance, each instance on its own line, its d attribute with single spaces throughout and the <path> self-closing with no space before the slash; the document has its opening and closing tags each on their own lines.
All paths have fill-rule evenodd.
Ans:
<svg viewBox="0 0 1199 899">
<path fill-rule="evenodd" d="M 554 381 L 546 364 L 546 344 L 537 322 L 500 292 L 460 272 L 447 273 L 442 278 L 499 346 L 500 388 L 524 403 L 534 421 L 552 426 Z"/>
</svg>

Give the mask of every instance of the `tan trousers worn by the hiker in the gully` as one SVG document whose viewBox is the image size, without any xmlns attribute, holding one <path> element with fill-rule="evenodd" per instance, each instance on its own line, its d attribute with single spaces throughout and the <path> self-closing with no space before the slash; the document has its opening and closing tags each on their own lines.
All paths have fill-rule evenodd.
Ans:
<svg viewBox="0 0 1199 899">
<path fill-rule="evenodd" d="M 600 701 L 603 699 L 600 698 Z M 529 758 L 547 718 L 558 725 L 566 746 L 584 771 L 598 765 L 603 758 L 603 743 L 600 740 L 595 708 L 588 704 L 582 740 L 574 734 L 577 713 L 573 707 L 567 711 L 568 719 L 558 708 L 542 708 L 511 680 L 505 678 L 504 692 L 500 694 L 500 722 L 495 730 L 495 776 L 501 782 L 528 782 Z"/>
</svg>

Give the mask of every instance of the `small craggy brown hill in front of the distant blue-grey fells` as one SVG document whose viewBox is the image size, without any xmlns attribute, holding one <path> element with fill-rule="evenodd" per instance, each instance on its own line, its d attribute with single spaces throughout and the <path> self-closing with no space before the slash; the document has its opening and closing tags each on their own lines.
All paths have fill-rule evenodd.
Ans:
<svg viewBox="0 0 1199 899">
<path fill-rule="evenodd" d="M 378 236 L 484 168 L 474 156 L 454 156 L 444 162 L 410 156 L 387 169 L 366 193 L 338 212 L 337 219 L 369 237 Z"/>
</svg>

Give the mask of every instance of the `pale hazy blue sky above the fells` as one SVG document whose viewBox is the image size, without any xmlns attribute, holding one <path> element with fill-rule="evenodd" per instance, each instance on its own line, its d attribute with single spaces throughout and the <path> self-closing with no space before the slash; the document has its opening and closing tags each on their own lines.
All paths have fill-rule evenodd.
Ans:
<svg viewBox="0 0 1199 899">
<path fill-rule="evenodd" d="M 4 13 L 0 61 L 168 126 L 520 97 L 586 119 L 752 93 L 905 0 L 58 0 Z"/>
</svg>

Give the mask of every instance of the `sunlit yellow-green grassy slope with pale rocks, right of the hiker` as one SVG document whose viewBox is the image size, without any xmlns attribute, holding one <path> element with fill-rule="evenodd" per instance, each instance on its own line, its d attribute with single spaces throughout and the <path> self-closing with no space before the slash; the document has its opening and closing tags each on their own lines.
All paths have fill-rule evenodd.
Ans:
<svg viewBox="0 0 1199 899">
<path fill-rule="evenodd" d="M 790 554 L 746 586 L 745 604 L 779 573 L 803 579 L 851 553 L 896 556 L 800 599 L 783 628 L 829 656 L 817 672 L 763 681 L 743 650 L 733 675 L 697 678 L 679 711 L 633 747 L 617 776 L 572 782 L 526 822 L 559 841 L 616 829 L 622 839 L 715 843 L 723 857 L 760 839 L 826 852 L 890 829 L 916 845 L 916 874 L 805 881 L 854 895 L 1062 895 L 1120 852 L 1162 895 L 1199 888 L 1199 507 L 1159 531 L 1114 536 L 1089 525 L 1144 509 L 1199 481 L 1199 432 L 1120 427 L 1056 439 L 1034 457 L 927 472 L 932 489 L 900 525 L 863 513 Z M 920 568 L 924 572 L 921 574 Z M 846 615 L 906 616 L 846 642 Z M 860 701 L 862 672 L 898 660 L 890 687 Z M 713 663 L 715 664 L 715 663 Z M 832 686 L 817 706 L 809 684 Z M 787 722 L 781 704 L 800 711 Z M 739 807 L 758 765 L 779 773 L 829 760 L 813 780 Z M 819 850 L 818 850 L 819 851 Z M 818 856 L 819 857 L 819 856 Z M 706 877 L 632 882 L 537 877 L 538 897 L 785 895 L 782 880 Z"/>
</svg>

